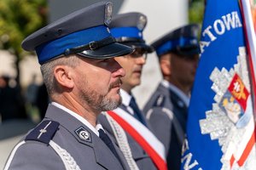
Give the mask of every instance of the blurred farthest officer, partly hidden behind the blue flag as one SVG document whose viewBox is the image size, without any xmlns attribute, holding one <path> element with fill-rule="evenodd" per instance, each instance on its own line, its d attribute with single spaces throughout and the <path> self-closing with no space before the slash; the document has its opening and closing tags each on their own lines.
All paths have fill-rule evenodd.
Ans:
<svg viewBox="0 0 256 170">
<path fill-rule="evenodd" d="M 199 59 L 198 26 L 182 26 L 153 42 L 163 80 L 143 111 L 166 146 L 168 169 L 180 169 L 190 90 Z"/>
</svg>

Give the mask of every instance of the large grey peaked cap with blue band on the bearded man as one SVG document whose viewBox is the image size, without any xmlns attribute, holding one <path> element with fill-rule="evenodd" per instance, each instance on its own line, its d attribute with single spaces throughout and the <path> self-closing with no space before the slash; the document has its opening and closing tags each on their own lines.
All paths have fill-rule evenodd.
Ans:
<svg viewBox="0 0 256 170">
<path fill-rule="evenodd" d="M 132 48 L 115 42 L 108 29 L 111 19 L 112 3 L 96 3 L 32 33 L 21 47 L 35 50 L 41 65 L 69 54 L 106 59 L 132 53 Z"/>
</svg>

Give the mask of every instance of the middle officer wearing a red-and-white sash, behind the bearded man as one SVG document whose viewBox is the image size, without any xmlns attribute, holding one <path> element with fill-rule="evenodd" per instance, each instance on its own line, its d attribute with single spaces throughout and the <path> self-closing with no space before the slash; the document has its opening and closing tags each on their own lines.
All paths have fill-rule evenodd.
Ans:
<svg viewBox="0 0 256 170">
<path fill-rule="evenodd" d="M 121 78 L 120 94 L 122 104 L 112 113 L 117 115 L 123 113 L 123 116 L 128 116 L 126 118 L 123 117 L 124 121 L 129 126 L 135 127 L 135 131 L 142 127 L 147 129 L 148 133 L 151 133 L 148 128 L 148 122 L 142 111 L 138 108 L 137 102 L 131 93 L 131 90 L 141 83 L 143 65 L 146 63 L 147 54 L 153 51 L 153 48 L 147 45 L 143 39 L 143 30 L 146 24 L 146 16 L 134 12 L 114 16 L 109 25 L 110 31 L 117 42 L 135 49 L 132 54 L 116 58 L 119 64 L 125 69 L 125 77 Z M 138 143 L 137 139 L 131 135 L 131 132 L 125 129 L 125 124 L 115 122 L 116 120 L 113 120 L 113 117 L 109 116 L 108 113 L 105 116 L 99 116 L 99 118 L 102 126 L 113 135 L 117 144 L 119 144 L 119 148 L 123 151 L 131 169 L 149 170 L 157 168 L 151 156 L 148 155 L 148 151 L 144 150 L 143 145 Z M 147 135 L 150 134 L 145 134 L 144 136 Z M 153 133 L 151 135 L 154 136 Z M 156 139 L 156 137 L 154 138 Z"/>
</svg>

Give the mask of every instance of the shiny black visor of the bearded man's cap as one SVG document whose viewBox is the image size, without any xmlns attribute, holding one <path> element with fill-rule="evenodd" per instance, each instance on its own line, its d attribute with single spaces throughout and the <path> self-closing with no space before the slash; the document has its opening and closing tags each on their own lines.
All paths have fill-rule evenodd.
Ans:
<svg viewBox="0 0 256 170">
<path fill-rule="evenodd" d="M 126 45 L 120 44 L 118 42 L 113 42 L 107 46 L 101 48 L 85 50 L 78 53 L 81 56 L 91 58 L 91 59 L 108 59 L 117 56 L 123 56 L 131 54 L 134 51 L 133 48 Z"/>
</svg>

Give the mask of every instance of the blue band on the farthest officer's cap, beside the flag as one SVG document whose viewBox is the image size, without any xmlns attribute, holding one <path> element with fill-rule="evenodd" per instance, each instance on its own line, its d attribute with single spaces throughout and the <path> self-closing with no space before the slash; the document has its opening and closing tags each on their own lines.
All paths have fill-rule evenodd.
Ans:
<svg viewBox="0 0 256 170">
<path fill-rule="evenodd" d="M 168 41 L 160 45 L 155 49 L 157 55 L 165 54 L 168 51 L 172 51 L 173 49 L 187 47 L 189 45 L 195 45 L 192 42 L 195 42 L 195 37 L 180 37 L 178 39 Z"/>
</svg>

